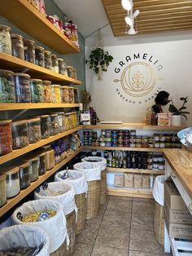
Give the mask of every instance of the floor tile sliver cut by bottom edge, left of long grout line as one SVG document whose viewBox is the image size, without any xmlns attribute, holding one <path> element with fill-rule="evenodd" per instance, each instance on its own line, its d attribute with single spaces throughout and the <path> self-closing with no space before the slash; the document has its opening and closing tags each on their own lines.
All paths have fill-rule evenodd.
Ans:
<svg viewBox="0 0 192 256">
<path fill-rule="evenodd" d="M 91 256 L 128 256 L 128 250 L 94 245 Z"/>
</svg>

